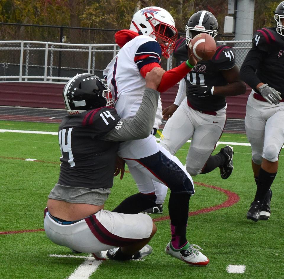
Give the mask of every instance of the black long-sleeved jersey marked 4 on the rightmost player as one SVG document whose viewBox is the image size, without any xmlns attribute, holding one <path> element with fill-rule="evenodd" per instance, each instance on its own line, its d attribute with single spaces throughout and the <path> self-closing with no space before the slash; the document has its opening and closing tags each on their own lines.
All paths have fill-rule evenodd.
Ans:
<svg viewBox="0 0 284 279">
<path fill-rule="evenodd" d="M 256 30 L 252 38 L 253 46 L 243 62 L 241 78 L 253 88 L 260 83 L 276 89 L 284 95 L 284 37 L 275 27 Z"/>
</svg>

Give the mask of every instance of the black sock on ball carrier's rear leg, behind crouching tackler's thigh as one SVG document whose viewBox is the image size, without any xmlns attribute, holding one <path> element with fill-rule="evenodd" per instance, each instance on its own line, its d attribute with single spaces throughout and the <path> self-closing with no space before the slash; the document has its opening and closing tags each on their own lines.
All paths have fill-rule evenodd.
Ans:
<svg viewBox="0 0 284 279">
<path fill-rule="evenodd" d="M 122 201 L 112 212 L 125 214 L 137 214 L 143 210 L 156 206 L 156 195 L 137 193 Z"/>
</svg>

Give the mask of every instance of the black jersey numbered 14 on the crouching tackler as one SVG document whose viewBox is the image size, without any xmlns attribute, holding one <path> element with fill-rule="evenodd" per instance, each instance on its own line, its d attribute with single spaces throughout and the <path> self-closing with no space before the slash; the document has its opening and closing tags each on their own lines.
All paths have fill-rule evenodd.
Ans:
<svg viewBox="0 0 284 279">
<path fill-rule="evenodd" d="M 119 120 L 115 109 L 110 107 L 64 117 L 59 126 L 62 157 L 58 184 L 90 189 L 112 187 L 119 142 L 101 137 Z"/>
</svg>

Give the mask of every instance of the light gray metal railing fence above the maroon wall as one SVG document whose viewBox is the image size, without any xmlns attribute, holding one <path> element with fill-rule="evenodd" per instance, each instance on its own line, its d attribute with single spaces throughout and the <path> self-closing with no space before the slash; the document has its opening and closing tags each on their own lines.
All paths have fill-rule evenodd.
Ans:
<svg viewBox="0 0 284 279">
<path fill-rule="evenodd" d="M 251 41 L 220 41 L 234 47 L 236 64 L 241 64 Z M 36 41 L 0 41 L 0 81 L 66 82 L 84 72 L 103 77 L 103 70 L 119 51 L 116 44 L 67 44 Z M 162 59 L 171 69 L 177 62 Z"/>
</svg>

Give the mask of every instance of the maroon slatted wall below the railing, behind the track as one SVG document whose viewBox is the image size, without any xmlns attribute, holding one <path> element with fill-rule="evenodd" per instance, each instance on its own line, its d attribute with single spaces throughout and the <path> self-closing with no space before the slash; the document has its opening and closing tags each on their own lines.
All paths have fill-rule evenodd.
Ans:
<svg viewBox="0 0 284 279">
<path fill-rule="evenodd" d="M 64 109 L 62 91 L 65 83 L 43 82 L 2 82 L 0 86 L 1 106 L 37 107 Z M 163 108 L 170 106 L 175 100 L 178 84 L 167 92 L 161 93 Z M 227 118 L 244 119 L 246 101 L 251 89 L 246 94 L 227 97 Z"/>
</svg>

